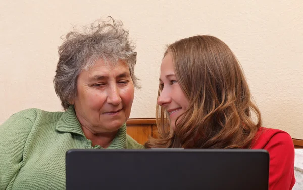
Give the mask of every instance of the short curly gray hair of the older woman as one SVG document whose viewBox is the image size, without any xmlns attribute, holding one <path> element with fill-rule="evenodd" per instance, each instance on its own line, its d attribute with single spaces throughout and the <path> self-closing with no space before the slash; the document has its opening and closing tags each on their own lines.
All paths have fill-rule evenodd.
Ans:
<svg viewBox="0 0 303 190">
<path fill-rule="evenodd" d="M 83 33 L 72 31 L 59 47 L 59 61 L 54 78 L 55 92 L 67 110 L 69 100 L 77 95 L 77 79 L 83 69 L 88 70 L 98 59 L 106 64 L 116 64 L 119 60 L 127 64 L 133 84 L 140 88 L 134 74 L 137 53 L 129 40 L 128 30 L 123 23 L 108 17 L 108 21 L 97 20 Z"/>
</svg>

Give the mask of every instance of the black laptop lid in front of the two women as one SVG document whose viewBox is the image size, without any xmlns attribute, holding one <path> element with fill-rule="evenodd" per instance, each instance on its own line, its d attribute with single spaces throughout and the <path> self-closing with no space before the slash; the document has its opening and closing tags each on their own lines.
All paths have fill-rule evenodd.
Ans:
<svg viewBox="0 0 303 190">
<path fill-rule="evenodd" d="M 268 189 L 269 154 L 251 149 L 75 149 L 66 189 Z"/>
</svg>

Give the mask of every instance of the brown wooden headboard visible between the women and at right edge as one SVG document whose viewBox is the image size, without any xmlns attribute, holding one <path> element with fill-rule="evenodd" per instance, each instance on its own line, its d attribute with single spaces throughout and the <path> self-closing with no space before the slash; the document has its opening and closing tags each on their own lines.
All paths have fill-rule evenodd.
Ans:
<svg viewBox="0 0 303 190">
<path fill-rule="evenodd" d="M 127 120 L 126 125 L 127 134 L 140 144 L 144 144 L 157 131 L 155 118 L 132 118 Z M 295 148 L 303 148 L 303 140 L 292 140 Z"/>
</svg>

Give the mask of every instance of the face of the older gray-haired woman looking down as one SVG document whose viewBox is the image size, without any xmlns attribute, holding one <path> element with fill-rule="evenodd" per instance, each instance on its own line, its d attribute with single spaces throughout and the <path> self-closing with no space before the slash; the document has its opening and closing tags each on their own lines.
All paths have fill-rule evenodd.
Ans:
<svg viewBox="0 0 303 190">
<path fill-rule="evenodd" d="M 93 133 L 117 131 L 128 119 L 134 99 L 134 84 L 128 66 L 119 61 L 105 65 L 102 59 L 77 80 L 73 100 L 82 127 Z"/>
</svg>

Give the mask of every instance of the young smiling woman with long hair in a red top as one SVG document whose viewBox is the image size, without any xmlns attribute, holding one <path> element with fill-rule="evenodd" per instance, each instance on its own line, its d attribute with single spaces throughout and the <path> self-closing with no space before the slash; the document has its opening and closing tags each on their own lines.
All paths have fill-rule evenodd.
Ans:
<svg viewBox="0 0 303 190">
<path fill-rule="evenodd" d="M 265 149 L 269 189 L 291 189 L 294 146 L 289 134 L 261 126 L 241 66 L 220 39 L 194 36 L 168 46 L 161 64 L 157 139 L 145 147 Z"/>
</svg>

